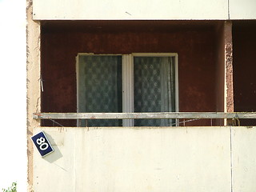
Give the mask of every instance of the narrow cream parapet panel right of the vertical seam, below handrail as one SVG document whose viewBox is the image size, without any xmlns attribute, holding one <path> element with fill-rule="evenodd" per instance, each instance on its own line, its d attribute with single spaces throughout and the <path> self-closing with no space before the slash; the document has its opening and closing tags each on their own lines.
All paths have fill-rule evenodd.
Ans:
<svg viewBox="0 0 256 192">
<path fill-rule="evenodd" d="M 252 192 L 256 189 L 256 129 L 232 128 L 233 191 Z"/>
</svg>

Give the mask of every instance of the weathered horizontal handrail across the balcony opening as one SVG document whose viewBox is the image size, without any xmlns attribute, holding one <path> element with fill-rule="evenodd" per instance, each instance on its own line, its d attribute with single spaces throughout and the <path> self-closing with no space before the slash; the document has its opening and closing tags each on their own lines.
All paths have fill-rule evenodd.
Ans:
<svg viewBox="0 0 256 192">
<path fill-rule="evenodd" d="M 34 119 L 255 118 L 256 112 L 35 113 Z"/>
</svg>

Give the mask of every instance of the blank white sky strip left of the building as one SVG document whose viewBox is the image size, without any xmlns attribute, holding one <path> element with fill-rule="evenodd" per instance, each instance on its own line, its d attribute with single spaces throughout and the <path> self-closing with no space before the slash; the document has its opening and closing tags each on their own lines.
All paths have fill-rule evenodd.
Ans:
<svg viewBox="0 0 256 192">
<path fill-rule="evenodd" d="M 0 0 L 0 191 L 26 191 L 26 1 Z"/>
</svg>

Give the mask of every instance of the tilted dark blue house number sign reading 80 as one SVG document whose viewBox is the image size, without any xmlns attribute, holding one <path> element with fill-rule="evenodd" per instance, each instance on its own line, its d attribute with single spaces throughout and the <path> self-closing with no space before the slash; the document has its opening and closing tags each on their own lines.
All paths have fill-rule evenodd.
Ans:
<svg viewBox="0 0 256 192">
<path fill-rule="evenodd" d="M 50 142 L 46 138 L 46 134 L 43 131 L 35 134 L 33 137 L 31 137 L 31 139 L 42 157 L 45 157 L 47 154 L 50 154 L 54 151 L 53 147 L 50 145 Z"/>
</svg>

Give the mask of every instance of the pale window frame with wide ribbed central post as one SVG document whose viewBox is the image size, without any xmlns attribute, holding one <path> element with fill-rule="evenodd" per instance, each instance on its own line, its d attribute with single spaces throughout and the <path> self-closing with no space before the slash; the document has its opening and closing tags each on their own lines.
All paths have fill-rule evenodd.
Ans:
<svg viewBox="0 0 256 192">
<path fill-rule="evenodd" d="M 175 111 L 178 112 L 178 54 L 177 53 L 132 53 L 94 54 L 78 53 L 76 56 L 77 113 L 79 113 L 79 57 L 80 56 L 122 56 L 122 113 L 134 113 L 134 57 L 174 57 L 175 65 Z M 123 102 L 126 101 L 126 102 Z M 124 111 L 125 110 L 125 111 Z M 78 126 L 80 122 L 78 121 Z M 122 126 L 134 126 L 134 119 L 123 119 Z"/>
</svg>

